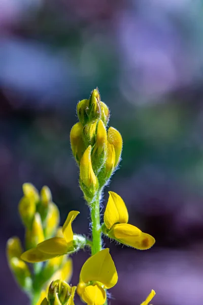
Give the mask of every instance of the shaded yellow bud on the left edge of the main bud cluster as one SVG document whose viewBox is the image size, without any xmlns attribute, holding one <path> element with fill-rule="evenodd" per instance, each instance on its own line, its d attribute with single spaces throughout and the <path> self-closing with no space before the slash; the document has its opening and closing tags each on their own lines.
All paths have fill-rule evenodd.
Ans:
<svg viewBox="0 0 203 305">
<path fill-rule="evenodd" d="M 70 134 L 72 152 L 78 164 L 80 164 L 80 159 L 85 151 L 85 144 L 82 139 L 82 131 L 83 125 L 78 122 L 72 127 Z"/>
</svg>

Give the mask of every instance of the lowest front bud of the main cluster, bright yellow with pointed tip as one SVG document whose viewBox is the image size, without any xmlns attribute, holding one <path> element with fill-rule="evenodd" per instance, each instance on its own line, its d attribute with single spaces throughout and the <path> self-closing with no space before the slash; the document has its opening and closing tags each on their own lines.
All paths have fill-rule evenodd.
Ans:
<svg viewBox="0 0 203 305">
<path fill-rule="evenodd" d="M 91 163 L 91 145 L 85 150 L 80 162 L 80 186 L 85 196 L 90 199 L 98 189 L 98 181 Z"/>
</svg>

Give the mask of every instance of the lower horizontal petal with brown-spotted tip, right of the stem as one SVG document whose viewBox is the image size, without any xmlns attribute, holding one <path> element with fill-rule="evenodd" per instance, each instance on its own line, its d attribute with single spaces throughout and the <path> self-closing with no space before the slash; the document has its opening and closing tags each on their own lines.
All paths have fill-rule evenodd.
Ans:
<svg viewBox="0 0 203 305">
<path fill-rule="evenodd" d="M 151 248 L 155 243 L 154 237 L 143 232 L 139 236 L 126 236 L 124 238 L 117 239 L 125 245 L 139 250 L 147 250 Z"/>
</svg>

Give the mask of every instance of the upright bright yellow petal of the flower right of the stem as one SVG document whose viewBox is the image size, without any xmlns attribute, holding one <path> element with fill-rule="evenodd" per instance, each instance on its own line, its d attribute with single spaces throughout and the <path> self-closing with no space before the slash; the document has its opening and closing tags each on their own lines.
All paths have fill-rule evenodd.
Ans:
<svg viewBox="0 0 203 305">
<path fill-rule="evenodd" d="M 114 192 L 109 192 L 109 200 L 104 215 L 104 222 L 108 229 L 116 223 L 128 222 L 128 212 L 123 199 Z"/>
</svg>

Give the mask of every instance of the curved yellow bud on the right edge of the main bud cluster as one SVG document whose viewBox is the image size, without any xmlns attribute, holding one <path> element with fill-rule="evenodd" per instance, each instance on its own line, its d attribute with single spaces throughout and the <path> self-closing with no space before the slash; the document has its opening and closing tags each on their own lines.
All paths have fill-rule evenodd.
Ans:
<svg viewBox="0 0 203 305">
<path fill-rule="evenodd" d="M 107 133 L 107 139 L 110 144 L 114 145 L 115 149 L 115 167 L 120 162 L 123 140 L 119 131 L 113 127 L 110 127 Z"/>
</svg>

